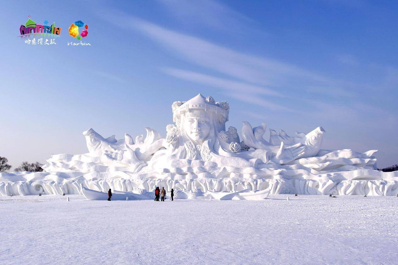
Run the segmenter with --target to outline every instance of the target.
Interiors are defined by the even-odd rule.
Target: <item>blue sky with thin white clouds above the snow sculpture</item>
[[[322,126],[322,149],[378,149],[378,167],[396,164],[398,2],[380,2],[4,2],[0,156],[16,167],[86,153],[89,128],[165,135],[171,104],[200,92],[230,103],[238,131]],[[57,44],[17,38],[27,15],[55,21]],[[91,46],[67,46],[76,20]]]

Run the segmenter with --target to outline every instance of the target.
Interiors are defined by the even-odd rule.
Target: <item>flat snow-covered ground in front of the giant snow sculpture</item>
[[[290,197],[287,201],[286,197]],[[0,264],[396,264],[398,198],[0,197]]]

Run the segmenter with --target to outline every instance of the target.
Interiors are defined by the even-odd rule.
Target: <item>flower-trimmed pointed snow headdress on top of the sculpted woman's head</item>
[[[189,112],[194,116],[203,116],[205,112],[214,112],[220,123],[228,121],[229,104],[226,101],[215,102],[213,97],[203,97],[200,93],[190,99],[189,101],[175,101],[172,104],[173,122],[178,120],[178,117]]]

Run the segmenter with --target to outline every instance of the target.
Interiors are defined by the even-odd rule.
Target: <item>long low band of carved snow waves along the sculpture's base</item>
[[[24,172],[21,172],[22,174]],[[41,180],[18,180],[15,182],[4,182],[2,173],[2,182],[0,182],[0,194],[2,196],[13,195],[38,195],[42,194],[80,194],[80,184],[92,190],[108,191],[151,191],[154,187],[164,187],[170,191],[172,188],[176,191],[186,190],[194,191],[242,191],[242,190],[266,190],[269,194],[281,193],[298,193],[307,195],[375,195],[375,196],[391,196],[398,193],[398,176],[394,174],[395,180],[331,180],[325,176],[318,179],[255,179],[244,178],[238,174],[232,177],[224,178],[199,178],[197,175],[191,175],[187,179],[185,176],[168,173],[164,179],[148,177],[145,179],[132,178],[103,178],[103,176],[95,176],[95,174],[85,174],[74,179],[62,178],[61,173],[51,174],[47,172],[36,172],[35,178]],[[17,175],[17,173],[7,173]],[[21,174],[21,175],[22,175]],[[29,175],[29,174],[28,174]],[[18,176],[18,175],[17,175]],[[106,174],[105,174],[106,176]],[[94,177],[94,178],[93,178]],[[96,178],[95,178],[96,177]],[[143,176],[142,176],[143,177]],[[258,176],[254,176],[258,177]],[[99,179],[98,179],[99,178]],[[57,180],[57,181],[56,181]],[[149,195],[150,195],[149,194]]]

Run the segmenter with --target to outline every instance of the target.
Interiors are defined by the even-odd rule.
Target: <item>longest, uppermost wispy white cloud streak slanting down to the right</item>
[[[301,89],[305,85],[325,83],[330,85],[330,83],[336,82],[329,77],[293,64],[237,52],[125,13],[104,14],[103,18],[111,23],[118,21],[115,24],[121,27],[129,27],[142,32],[188,62],[250,83]]]

